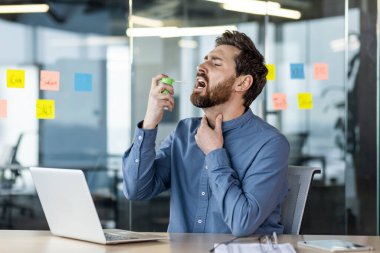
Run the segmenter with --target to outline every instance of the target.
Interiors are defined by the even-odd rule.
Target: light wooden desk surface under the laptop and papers
[[[160,233],[165,234],[165,233]],[[227,234],[169,234],[169,240],[139,242],[119,245],[100,245],[55,237],[49,231],[0,230],[1,253],[208,253],[214,243],[233,238]],[[321,253],[310,249],[297,248],[298,240],[342,239],[368,244],[380,253],[378,236],[329,236],[329,235],[280,235],[279,242],[293,244],[298,253]],[[246,237],[239,242],[257,242],[257,237]]]

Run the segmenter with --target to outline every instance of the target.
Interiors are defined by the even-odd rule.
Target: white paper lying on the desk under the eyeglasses
[[[259,243],[231,243],[215,244],[215,253],[296,253],[290,243],[280,243],[277,245],[266,245]]]

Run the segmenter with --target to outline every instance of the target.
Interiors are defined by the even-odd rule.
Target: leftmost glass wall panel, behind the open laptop
[[[102,224],[122,223],[118,210],[127,201],[118,178],[130,143],[129,45],[125,16],[117,32],[108,13],[120,16],[103,7],[87,12],[86,4],[67,2],[46,14],[0,15],[0,228],[48,228],[29,166],[84,170]],[[22,71],[23,88],[9,86],[9,70]],[[43,70],[59,73],[57,89],[40,87]],[[77,74],[90,77],[84,90]],[[54,101],[52,119],[38,118],[38,100]]]

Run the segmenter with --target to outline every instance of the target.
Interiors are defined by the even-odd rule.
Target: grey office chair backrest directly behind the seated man
[[[284,225],[285,234],[299,234],[310,183],[314,174],[319,173],[321,173],[321,169],[316,167],[289,166],[290,190],[281,206],[281,222]]]

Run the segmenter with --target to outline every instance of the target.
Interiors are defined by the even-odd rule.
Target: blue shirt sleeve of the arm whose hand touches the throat
[[[289,143],[282,135],[265,143],[239,180],[225,149],[206,156],[209,184],[235,236],[253,234],[287,194]]]

